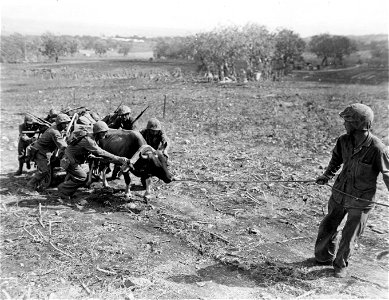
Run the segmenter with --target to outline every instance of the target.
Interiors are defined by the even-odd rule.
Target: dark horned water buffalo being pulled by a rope
[[[167,157],[161,150],[155,150],[147,145],[145,139],[138,131],[111,129],[108,131],[106,138],[101,140],[100,147],[112,154],[130,159],[131,163],[123,169],[126,183],[126,198],[131,197],[129,172],[141,178],[142,183],[146,187],[145,198],[150,196],[152,176],[158,177],[165,183],[170,183],[173,180],[173,176],[167,168]],[[106,168],[102,172],[103,185],[108,186],[105,170]]]

